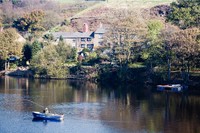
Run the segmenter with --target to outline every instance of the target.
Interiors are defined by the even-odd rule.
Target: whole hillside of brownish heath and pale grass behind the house
[[[169,5],[173,0],[40,0],[22,1],[13,5],[11,2],[0,4],[0,18],[4,26],[11,26],[13,20],[29,14],[34,10],[42,10],[45,18],[42,26],[47,31],[79,31],[83,23],[88,23],[90,30],[94,30],[100,22],[112,23],[119,12],[127,9],[135,17],[150,18],[150,9],[156,5]],[[115,15],[113,14],[114,12]]]

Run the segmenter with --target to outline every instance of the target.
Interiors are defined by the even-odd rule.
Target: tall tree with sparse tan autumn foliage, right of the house
[[[120,66],[134,60],[137,50],[144,42],[146,23],[138,14],[137,11],[122,10],[109,16],[112,23],[105,40],[112,46],[113,58]]]

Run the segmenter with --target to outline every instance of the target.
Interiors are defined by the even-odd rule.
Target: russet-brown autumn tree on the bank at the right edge
[[[172,64],[178,69],[187,73],[187,80],[191,68],[198,67],[200,44],[198,28],[178,30],[176,32],[165,33],[165,45],[170,53],[173,54]]]

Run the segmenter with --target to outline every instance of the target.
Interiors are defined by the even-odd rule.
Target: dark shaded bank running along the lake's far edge
[[[181,77],[180,72],[171,73],[171,81],[166,80],[167,72],[154,72],[149,73],[146,68],[128,68],[126,71],[121,70],[118,67],[86,67],[81,66],[79,68],[72,68],[70,73],[64,78],[51,77],[49,75],[34,75],[28,67],[19,67],[16,70],[1,71],[0,76],[8,75],[14,77],[25,77],[25,78],[38,78],[38,79],[56,79],[56,80],[85,80],[98,82],[101,84],[146,84],[146,85],[157,85],[157,84],[185,84],[189,88],[200,88],[200,73],[191,72],[189,80],[187,82]],[[200,90],[200,89],[199,89]]]

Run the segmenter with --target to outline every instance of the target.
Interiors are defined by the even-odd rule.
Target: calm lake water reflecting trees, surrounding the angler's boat
[[[109,84],[109,83],[107,83]],[[48,107],[62,122],[33,121]],[[200,96],[154,87],[0,78],[0,133],[199,133]]]

